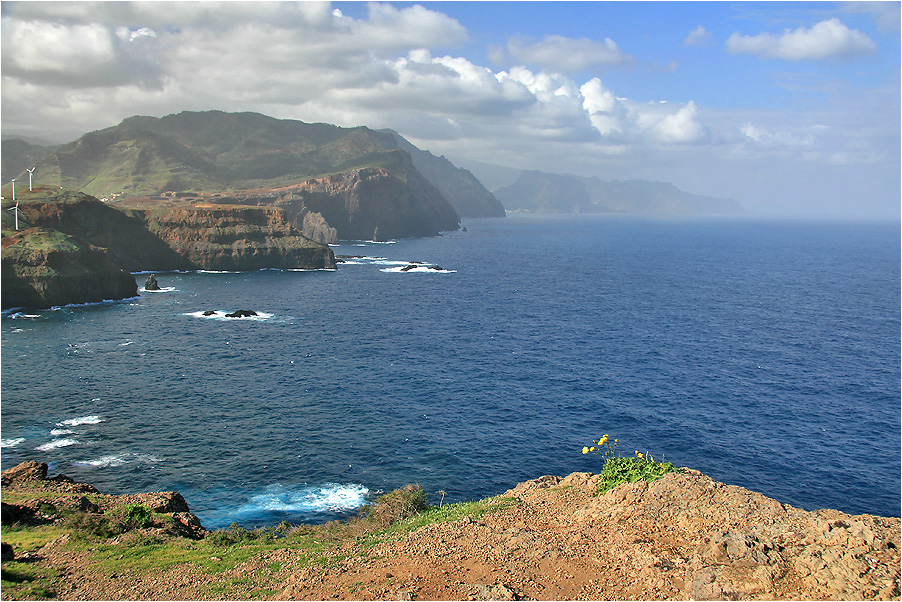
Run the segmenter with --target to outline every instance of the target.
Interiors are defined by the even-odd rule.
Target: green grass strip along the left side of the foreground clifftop
[[[27,495],[4,493],[23,499]],[[43,496],[50,498],[52,496]],[[418,486],[407,486],[377,498],[361,515],[347,521],[323,525],[293,526],[283,523],[271,529],[247,530],[233,525],[229,529],[208,532],[206,538],[190,540],[182,537],[158,536],[141,530],[139,525],[156,521],[158,515],[146,516],[146,507],[123,505],[104,515],[61,511],[61,524],[38,527],[4,526],[3,541],[13,545],[17,555],[34,551],[62,535],[70,534],[66,546],[87,552],[91,569],[98,576],[113,573],[161,574],[177,565],[187,565],[207,575],[211,583],[198,583],[197,594],[206,597],[268,598],[280,591],[288,571],[303,566],[338,566],[349,557],[363,561],[374,558],[372,548],[426,525],[476,519],[517,503],[502,496],[476,502],[428,506],[426,495]],[[132,530],[120,531],[115,540],[112,532],[95,529],[91,521],[77,514],[102,521],[127,523]],[[352,543],[353,546],[343,547]],[[274,561],[266,554],[292,550],[288,562]],[[244,563],[258,559],[256,576],[230,576],[229,572]],[[54,596],[53,582],[59,576],[41,563],[8,562],[3,565],[4,599],[46,599]]]

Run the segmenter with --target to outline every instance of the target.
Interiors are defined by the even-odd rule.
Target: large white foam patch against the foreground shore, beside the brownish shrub
[[[250,498],[238,509],[239,514],[251,512],[345,512],[366,503],[369,489],[358,484],[325,483],[289,489],[271,485],[264,493]]]

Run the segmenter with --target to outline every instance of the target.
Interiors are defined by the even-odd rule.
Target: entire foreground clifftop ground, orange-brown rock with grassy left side
[[[9,472],[4,502],[36,507],[22,496],[38,491],[56,506],[86,505],[77,500],[87,492],[66,493],[77,485]],[[436,520],[419,527],[410,521],[421,517],[379,531],[301,528],[262,546],[199,539],[185,508],[131,497],[176,518],[103,541],[54,531],[4,562],[3,599],[13,599],[7,572],[23,561],[50,575],[33,597],[73,600],[899,599],[898,518],[806,512],[694,471],[595,491],[589,473],[546,476],[486,503],[433,509]],[[13,510],[4,506],[4,542]],[[148,561],[173,550],[189,560]]]

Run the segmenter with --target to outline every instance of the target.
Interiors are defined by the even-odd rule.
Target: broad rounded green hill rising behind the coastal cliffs
[[[311,177],[393,165],[393,140],[256,113],[184,112],[130,117],[42,159],[40,183],[98,197],[286,186]]]

